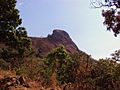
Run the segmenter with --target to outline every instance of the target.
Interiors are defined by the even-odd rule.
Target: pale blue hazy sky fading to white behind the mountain
[[[65,30],[80,50],[97,59],[120,47],[120,36],[106,31],[101,9],[90,8],[89,0],[18,0],[17,7],[29,36]]]

